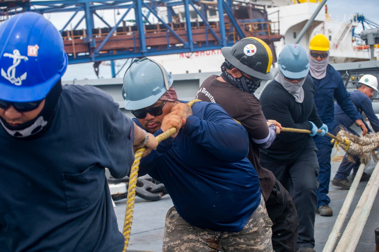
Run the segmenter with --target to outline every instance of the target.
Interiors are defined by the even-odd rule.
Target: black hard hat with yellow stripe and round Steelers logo
[[[269,46],[256,37],[245,37],[232,47],[221,48],[225,59],[248,75],[259,79],[272,79],[270,72],[273,53]]]

